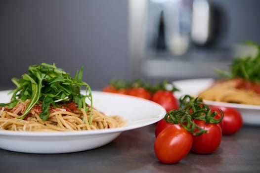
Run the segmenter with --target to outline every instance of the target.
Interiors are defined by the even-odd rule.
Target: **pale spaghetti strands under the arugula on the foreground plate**
[[[26,104],[20,103],[26,106]],[[126,125],[120,116],[107,116],[95,109],[92,111],[91,123],[88,123],[89,112],[83,108],[76,111],[69,111],[62,108],[51,109],[49,118],[43,121],[37,112],[39,110],[33,108],[28,116],[22,120],[17,112],[20,106],[12,110],[2,107],[0,110],[0,130],[14,131],[73,131],[73,130],[100,130],[119,128]],[[24,108],[22,108],[24,109]],[[21,110],[22,110],[21,109]],[[18,113],[21,113],[20,111]],[[85,120],[85,121],[83,121]]]

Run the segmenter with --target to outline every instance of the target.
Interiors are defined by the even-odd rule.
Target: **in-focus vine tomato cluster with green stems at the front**
[[[237,110],[208,106],[201,98],[185,95],[179,99],[179,108],[156,124],[155,155],[164,164],[174,164],[189,152],[212,154],[222,135],[234,134],[242,124]]]

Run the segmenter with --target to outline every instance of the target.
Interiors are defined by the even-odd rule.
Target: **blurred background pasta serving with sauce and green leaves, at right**
[[[260,44],[246,41],[247,46],[256,48],[257,54],[238,56],[233,59],[228,72],[217,70],[225,76],[199,96],[206,100],[260,105]]]

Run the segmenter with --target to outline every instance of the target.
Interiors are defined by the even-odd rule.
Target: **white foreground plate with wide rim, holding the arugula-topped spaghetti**
[[[8,91],[0,91],[0,103],[8,102]],[[1,131],[0,148],[26,153],[68,153],[103,146],[123,131],[141,128],[161,120],[165,109],[159,104],[122,94],[92,91],[93,106],[107,115],[120,115],[126,127],[70,132]]]

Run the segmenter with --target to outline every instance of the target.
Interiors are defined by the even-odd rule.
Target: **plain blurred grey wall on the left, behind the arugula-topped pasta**
[[[0,0],[0,87],[55,63],[101,88],[129,78],[127,0]]]

